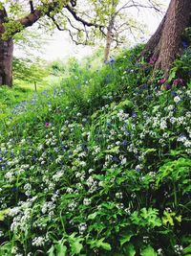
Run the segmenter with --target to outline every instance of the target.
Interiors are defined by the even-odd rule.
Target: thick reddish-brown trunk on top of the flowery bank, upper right
[[[148,41],[142,55],[150,51],[157,58],[154,71],[161,69],[168,78],[173,61],[182,49],[181,35],[189,26],[191,16],[190,0],[171,0],[158,30]]]

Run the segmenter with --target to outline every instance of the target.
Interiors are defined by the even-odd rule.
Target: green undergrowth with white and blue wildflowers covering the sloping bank
[[[0,255],[190,255],[190,74],[140,50],[2,118]]]

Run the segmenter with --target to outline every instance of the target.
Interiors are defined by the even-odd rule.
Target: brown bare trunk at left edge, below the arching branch
[[[0,85],[12,85],[13,41],[0,40]]]

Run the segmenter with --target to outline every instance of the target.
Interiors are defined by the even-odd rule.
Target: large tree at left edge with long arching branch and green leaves
[[[93,18],[87,21],[80,16],[81,12],[78,15],[76,2],[77,0],[0,1],[0,85],[12,85],[13,36],[32,26],[40,18],[48,17],[59,29],[56,14],[61,13],[63,20],[68,21],[80,33],[85,29],[79,30],[73,25],[72,19],[83,28],[96,27],[101,30],[102,27],[96,25]]]

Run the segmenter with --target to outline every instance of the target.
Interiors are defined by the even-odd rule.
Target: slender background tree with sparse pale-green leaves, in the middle
[[[106,44],[104,61],[107,61],[113,46],[117,47],[129,38],[136,40],[137,35],[145,34],[143,26],[138,22],[136,12],[145,9],[160,12],[162,5],[156,0],[92,0],[96,13],[105,27]]]

